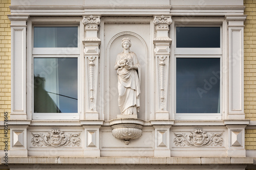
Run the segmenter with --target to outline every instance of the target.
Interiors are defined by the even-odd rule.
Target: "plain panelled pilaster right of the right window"
[[[246,15],[226,16],[228,23],[228,114],[244,119],[244,21]]]

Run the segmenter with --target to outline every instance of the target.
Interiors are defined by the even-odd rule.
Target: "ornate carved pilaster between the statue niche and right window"
[[[169,119],[169,112],[166,110],[167,104],[167,85],[170,57],[169,25],[172,23],[170,16],[155,16],[155,63],[156,63],[156,82],[157,82],[157,111],[155,119]]]

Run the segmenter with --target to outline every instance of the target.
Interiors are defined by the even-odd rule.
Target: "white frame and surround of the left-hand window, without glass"
[[[31,18],[28,21],[28,118],[33,120],[78,120],[82,118],[82,82],[83,82],[83,57],[82,43],[80,37],[82,33],[81,18]],[[60,48],[60,47],[33,47],[34,44],[34,27],[77,27],[77,47]],[[78,76],[78,102],[77,113],[34,113],[34,58],[77,58],[77,76]]]

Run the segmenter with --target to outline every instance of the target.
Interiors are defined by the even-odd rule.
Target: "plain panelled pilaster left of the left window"
[[[9,15],[11,20],[11,114],[27,119],[27,15]]]

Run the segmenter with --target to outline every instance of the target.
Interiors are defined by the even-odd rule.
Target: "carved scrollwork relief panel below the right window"
[[[222,133],[208,133],[203,129],[194,129],[190,133],[175,134],[174,143],[176,146],[185,145],[194,147],[221,146],[223,144]]]

